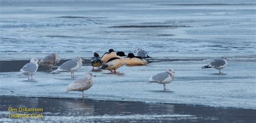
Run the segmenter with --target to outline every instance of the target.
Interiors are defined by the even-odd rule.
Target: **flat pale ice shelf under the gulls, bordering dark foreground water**
[[[123,66],[118,69],[119,74],[93,72],[91,66],[85,65],[75,75],[81,77],[85,72],[91,72],[97,76],[93,78],[95,85],[85,92],[90,99],[256,108],[254,61],[230,61],[224,74],[218,74],[215,69],[200,69],[206,63],[207,60],[162,61],[146,66]],[[174,81],[167,84],[171,91],[164,92],[163,85],[146,83],[150,76],[167,68],[177,73]],[[64,93],[66,86],[74,80],[68,72],[39,71],[33,81],[26,80],[18,72],[1,72],[0,77],[0,95],[81,97],[80,92]]]

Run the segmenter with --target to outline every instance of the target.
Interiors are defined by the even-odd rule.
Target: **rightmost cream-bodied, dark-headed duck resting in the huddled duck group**
[[[133,53],[129,53],[127,58],[125,59],[125,64],[126,65],[146,65],[147,60],[139,56],[134,56]]]

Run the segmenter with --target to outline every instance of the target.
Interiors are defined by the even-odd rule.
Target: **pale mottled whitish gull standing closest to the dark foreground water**
[[[88,90],[93,85],[92,74],[86,73],[84,77],[78,78],[68,85],[66,93],[70,91],[82,91],[84,99],[84,91]]]

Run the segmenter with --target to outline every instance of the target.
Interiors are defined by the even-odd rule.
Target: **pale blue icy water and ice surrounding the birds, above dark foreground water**
[[[138,47],[153,57],[146,66],[120,67],[120,74],[92,72],[97,77],[87,98],[256,109],[256,1],[0,2],[1,60],[42,59],[52,52],[90,59],[95,51],[129,53]],[[200,69],[223,56],[229,59],[224,74]],[[176,71],[170,91],[146,84],[169,68]],[[90,69],[85,64],[75,74]],[[81,97],[64,93],[73,81],[70,73],[38,71],[34,78],[1,72],[0,95]]]

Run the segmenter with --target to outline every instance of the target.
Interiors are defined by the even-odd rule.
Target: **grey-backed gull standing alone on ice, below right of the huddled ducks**
[[[175,77],[175,72],[171,69],[168,69],[166,72],[157,73],[149,79],[150,83],[159,83],[164,84],[164,91],[169,90],[165,88],[165,84],[171,83]]]

